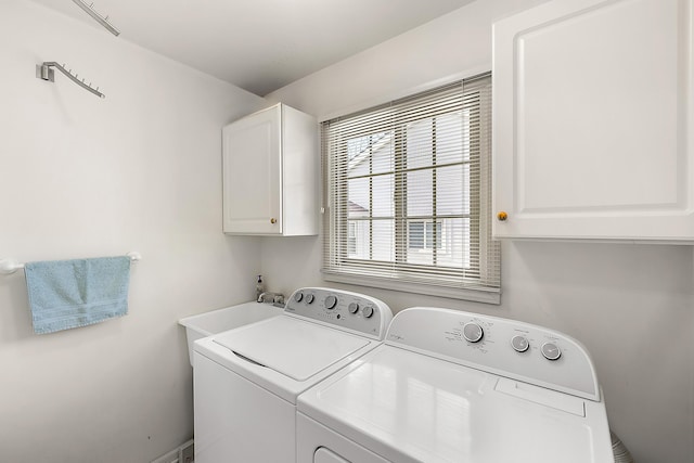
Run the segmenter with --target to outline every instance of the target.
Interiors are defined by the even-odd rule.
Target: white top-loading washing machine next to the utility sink
[[[378,346],[391,319],[376,298],[306,287],[278,317],[195,342],[195,462],[294,462],[297,396]]]

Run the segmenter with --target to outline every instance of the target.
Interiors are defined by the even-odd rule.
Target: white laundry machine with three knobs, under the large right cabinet
[[[297,401],[299,463],[614,462],[593,362],[577,340],[439,308]]]

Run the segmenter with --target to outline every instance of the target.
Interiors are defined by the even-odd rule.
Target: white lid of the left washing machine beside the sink
[[[306,381],[370,344],[290,316],[222,333],[215,343],[295,381]]]

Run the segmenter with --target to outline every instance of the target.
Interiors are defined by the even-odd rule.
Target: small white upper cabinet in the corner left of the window
[[[223,230],[318,234],[318,124],[277,104],[222,131]]]

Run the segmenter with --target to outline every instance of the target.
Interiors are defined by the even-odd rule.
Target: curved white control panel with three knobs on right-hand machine
[[[576,339],[542,326],[432,307],[399,312],[386,343],[477,370],[600,400],[595,368]]]

